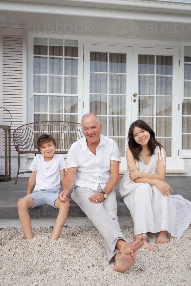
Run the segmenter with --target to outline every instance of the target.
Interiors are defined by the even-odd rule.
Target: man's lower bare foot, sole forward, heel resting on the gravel
[[[129,247],[123,251],[123,253],[118,252],[115,255],[115,265],[113,271],[125,272],[129,267],[135,263],[135,256],[133,250]]]

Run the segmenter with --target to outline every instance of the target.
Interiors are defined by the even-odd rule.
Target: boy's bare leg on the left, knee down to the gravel
[[[17,202],[19,219],[26,239],[33,239],[31,219],[28,213],[28,208],[31,208],[33,205],[34,205],[34,199],[31,198],[30,196],[25,196],[24,198],[20,198]]]

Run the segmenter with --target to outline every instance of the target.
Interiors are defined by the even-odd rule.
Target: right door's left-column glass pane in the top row
[[[139,55],[138,74],[155,74],[154,55]]]

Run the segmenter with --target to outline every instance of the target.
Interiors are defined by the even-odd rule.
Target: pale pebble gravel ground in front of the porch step
[[[34,229],[34,239],[24,239],[22,229],[0,230],[0,285],[191,285],[191,225],[166,245],[147,241],[155,253],[137,251],[135,264],[125,273],[107,263],[103,238],[95,227],[64,227],[57,241],[50,241],[53,227]],[[133,227],[123,227],[133,240]]]

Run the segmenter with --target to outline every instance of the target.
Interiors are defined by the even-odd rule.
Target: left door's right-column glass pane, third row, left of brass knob
[[[125,115],[126,96],[109,96],[109,115]]]

